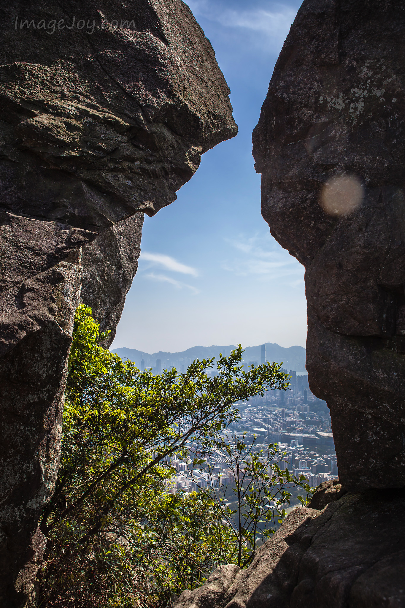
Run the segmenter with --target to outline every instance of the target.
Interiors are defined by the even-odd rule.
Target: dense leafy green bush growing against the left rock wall
[[[194,361],[183,374],[173,368],[154,376],[104,350],[100,342],[105,337],[91,309],[80,305],[69,357],[60,469],[41,520],[47,537],[44,606],[133,606],[139,589],[149,603],[152,596],[159,603],[159,593],[169,598],[172,589],[199,584],[215,565],[199,548],[216,542],[211,528],[223,528],[225,536],[233,532],[200,497],[166,496],[174,473],[169,457],[185,456],[190,449],[209,452],[218,432],[236,418],[237,401],[288,387],[281,365],[244,371],[240,345],[229,357],[219,356],[214,378],[206,375],[214,359]],[[194,523],[186,531],[181,522],[188,512],[188,523]],[[148,528],[148,542],[142,545]],[[157,538],[163,548],[157,548]],[[154,564],[149,581],[140,546]],[[166,547],[171,547],[169,559],[163,557]]]

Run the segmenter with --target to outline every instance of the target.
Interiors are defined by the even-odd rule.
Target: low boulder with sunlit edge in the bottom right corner
[[[210,608],[405,606],[405,491],[345,494],[322,511],[298,508]],[[229,567],[229,566],[228,566]],[[223,567],[222,567],[223,568]],[[217,570],[213,580],[221,575]],[[207,582],[176,608],[202,608]],[[205,592],[206,587],[206,592]]]

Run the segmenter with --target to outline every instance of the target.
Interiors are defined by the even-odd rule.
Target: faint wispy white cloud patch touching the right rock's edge
[[[224,260],[222,268],[240,276],[257,275],[259,280],[285,278],[291,275],[302,275],[304,269],[301,264],[288,254],[275,246],[270,235],[246,238],[240,235],[237,239],[225,239],[233,249],[243,254],[235,255],[233,259]],[[274,247],[274,249],[273,249]],[[288,283],[291,287],[302,283],[302,277]]]

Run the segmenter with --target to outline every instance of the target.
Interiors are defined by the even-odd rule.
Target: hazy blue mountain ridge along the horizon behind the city
[[[288,371],[294,370],[301,373],[305,372],[305,348],[302,346],[291,346],[290,348],[284,348],[279,344],[273,344],[272,342],[266,342],[266,359],[267,361],[277,363],[283,363],[283,367],[287,368]],[[156,367],[157,359],[160,359],[162,370],[165,368],[175,367],[181,371],[182,365],[187,367],[194,359],[206,359],[211,357],[217,357],[219,353],[230,354],[231,350],[236,348],[233,344],[226,346],[194,346],[183,350],[179,353],[166,353],[165,351],[158,351],[158,353],[145,353],[136,348],[115,348],[112,350],[113,353],[117,353],[121,359],[129,359],[133,361],[137,367],[141,366],[141,361],[145,362],[145,367]],[[260,364],[261,357],[261,345],[245,347],[243,353],[243,363],[248,365],[250,361],[257,362]]]

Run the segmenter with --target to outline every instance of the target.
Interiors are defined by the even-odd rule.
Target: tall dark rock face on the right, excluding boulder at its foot
[[[405,485],[404,36],[403,1],[305,0],[253,134],[262,215],[306,268],[309,384],[352,491]],[[338,176],[360,193],[350,213],[319,204]]]

